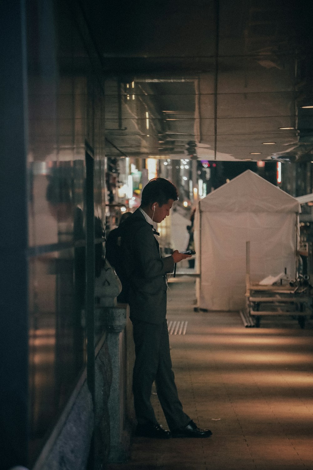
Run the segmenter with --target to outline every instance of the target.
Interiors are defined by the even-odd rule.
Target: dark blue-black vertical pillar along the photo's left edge
[[[1,3],[0,468],[27,465],[28,195],[26,11]]]

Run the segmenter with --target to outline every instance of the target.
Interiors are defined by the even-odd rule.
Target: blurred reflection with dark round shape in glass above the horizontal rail
[[[30,164],[30,246],[84,239],[84,161]]]

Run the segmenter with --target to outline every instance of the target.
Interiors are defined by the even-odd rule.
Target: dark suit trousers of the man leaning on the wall
[[[183,412],[177,394],[169,351],[167,321],[161,325],[137,320],[132,322],[136,353],[133,393],[137,422],[158,423],[150,400],[155,381],[169,429],[186,426],[191,418]]]

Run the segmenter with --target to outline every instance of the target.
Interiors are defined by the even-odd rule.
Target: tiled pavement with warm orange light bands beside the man
[[[170,336],[176,384],[185,412],[213,436],[133,438],[130,461],[108,470],[313,470],[312,321],[300,329],[269,317],[257,329],[236,312],[194,313],[194,283],[181,281],[168,292],[168,320],[188,321]]]

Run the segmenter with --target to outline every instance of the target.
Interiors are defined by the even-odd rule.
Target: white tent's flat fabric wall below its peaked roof
[[[251,282],[277,275],[285,267],[294,278],[296,222],[295,213],[202,212],[199,307],[244,308],[246,241],[251,244]]]

